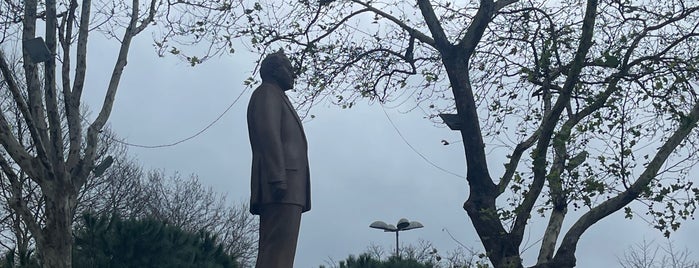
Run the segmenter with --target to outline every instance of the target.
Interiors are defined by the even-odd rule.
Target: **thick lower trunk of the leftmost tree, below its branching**
[[[63,184],[63,185],[61,185]],[[72,263],[72,188],[57,183],[45,193],[46,227],[43,228],[43,245],[39,254],[44,268],[70,268]]]

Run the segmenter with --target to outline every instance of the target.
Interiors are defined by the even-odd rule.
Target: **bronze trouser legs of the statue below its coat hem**
[[[256,268],[292,268],[301,224],[301,206],[268,204],[260,208]]]

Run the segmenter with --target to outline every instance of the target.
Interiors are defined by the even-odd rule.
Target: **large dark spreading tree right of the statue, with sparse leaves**
[[[495,267],[523,267],[532,214],[548,218],[539,268],[575,266],[620,210],[666,236],[693,215],[699,1],[282,2],[251,8],[246,34],[294,52],[300,105],[455,113],[463,208]]]

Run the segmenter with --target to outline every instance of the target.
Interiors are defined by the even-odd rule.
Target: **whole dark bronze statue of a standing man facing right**
[[[308,147],[301,119],[284,93],[295,78],[289,58],[283,51],[268,55],[260,76],[248,105],[250,213],[260,215],[255,267],[291,268],[301,213],[311,209]]]

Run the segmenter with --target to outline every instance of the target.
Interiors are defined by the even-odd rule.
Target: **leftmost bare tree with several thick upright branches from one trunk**
[[[23,4],[23,5],[22,5]],[[112,78],[105,96],[105,104],[97,118],[90,124],[87,135],[83,136],[80,118],[80,101],[85,79],[87,56],[86,48],[90,29],[90,1],[82,3],[77,12],[77,1],[57,7],[54,0],[44,3],[39,13],[38,1],[16,3],[23,6],[22,40],[36,37],[37,21],[46,22],[46,45],[51,55],[57,55],[58,45],[63,49],[61,56],[61,77],[56,77],[56,57],[49,57],[43,66],[44,81],[40,81],[39,64],[32,59],[29,50],[23,49],[23,69],[26,88],[20,87],[16,75],[9,68],[5,49],[0,50],[0,70],[7,81],[8,90],[13,101],[21,111],[22,119],[30,133],[34,152],[28,151],[19,138],[12,134],[12,128],[5,113],[0,114],[0,144],[6,155],[0,158],[3,173],[11,183],[19,183],[21,171],[26,173],[41,187],[44,198],[45,221],[37,222],[32,212],[21,200],[12,202],[28,226],[37,244],[38,253],[45,267],[70,267],[71,265],[71,230],[73,210],[77,193],[85,184],[89,173],[95,167],[98,133],[105,125],[111,112],[114,96],[121,79],[123,68],[132,38],[150,24],[155,15],[155,2],[141,17],[138,1],[129,9],[130,20],[121,39],[119,57],[114,65]],[[65,8],[58,12],[59,8]],[[61,14],[61,16],[59,16]],[[60,21],[59,21],[60,20]],[[139,20],[142,20],[139,22]],[[76,27],[77,26],[77,27]],[[77,28],[77,29],[76,29]],[[74,77],[71,79],[71,48],[74,45],[73,31],[77,30],[77,61]],[[61,83],[61,97],[57,84]],[[43,84],[43,85],[42,85]],[[22,94],[22,92],[26,92]],[[26,97],[25,97],[26,96]],[[59,101],[63,101],[66,111],[68,130],[64,131],[59,114]],[[69,140],[69,150],[65,153],[64,136]],[[12,162],[14,162],[14,164]]]

